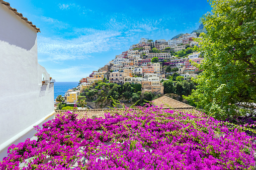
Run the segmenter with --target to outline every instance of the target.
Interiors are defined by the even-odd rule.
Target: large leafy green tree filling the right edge
[[[218,119],[245,115],[248,109],[237,104],[256,102],[256,1],[209,2],[212,12],[201,19],[204,71],[187,99]]]

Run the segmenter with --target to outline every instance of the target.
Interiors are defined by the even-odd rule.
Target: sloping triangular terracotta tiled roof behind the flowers
[[[167,96],[162,96],[157,99],[152,100],[153,105],[163,108],[195,108],[193,106],[190,106],[188,104],[182,103],[178,100],[169,98]]]

